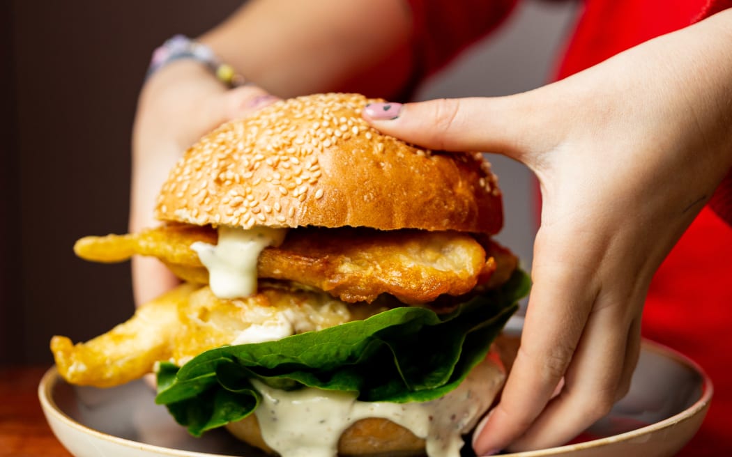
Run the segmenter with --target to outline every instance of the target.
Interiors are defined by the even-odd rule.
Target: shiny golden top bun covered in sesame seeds
[[[481,154],[416,148],[371,128],[358,94],[282,100],[192,146],[155,208],[171,222],[496,233],[501,192]],[[429,128],[429,126],[425,126]]]

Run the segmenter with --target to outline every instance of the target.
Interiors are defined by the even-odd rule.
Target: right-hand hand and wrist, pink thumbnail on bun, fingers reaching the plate
[[[505,154],[539,178],[534,287],[479,455],[560,445],[627,393],[651,277],[732,165],[731,23],[722,12],[524,94],[365,110],[383,132]]]

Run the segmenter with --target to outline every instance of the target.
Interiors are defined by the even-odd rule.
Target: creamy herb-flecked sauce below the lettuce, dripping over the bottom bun
[[[334,457],[343,431],[365,418],[384,418],[407,428],[425,439],[429,457],[459,457],[462,435],[488,409],[502,382],[496,365],[481,363],[441,399],[389,403],[313,388],[283,392],[252,379],[262,395],[255,409],[262,437],[283,457]]]

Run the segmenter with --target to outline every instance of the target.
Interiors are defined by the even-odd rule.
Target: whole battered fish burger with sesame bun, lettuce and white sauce
[[[289,456],[459,456],[505,369],[492,345],[528,279],[491,239],[501,192],[481,154],[383,135],[358,94],[283,100],[192,146],[162,224],[82,238],[87,260],[154,256],[182,284],[86,343],[62,377],[157,375],[193,435],[225,426]]]

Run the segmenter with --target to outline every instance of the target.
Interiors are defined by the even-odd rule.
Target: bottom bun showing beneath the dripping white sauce
[[[249,415],[238,422],[228,423],[226,429],[249,445],[277,455],[262,438],[259,421]],[[415,437],[403,426],[382,418],[367,418],[346,428],[338,440],[339,456],[411,457],[425,455],[425,440]]]

